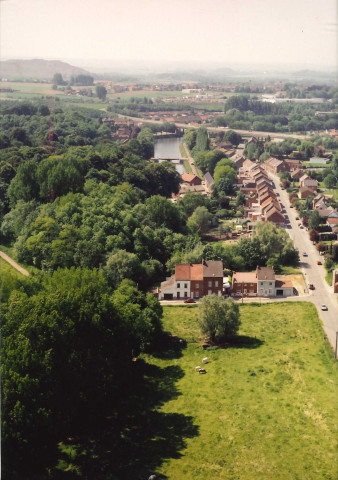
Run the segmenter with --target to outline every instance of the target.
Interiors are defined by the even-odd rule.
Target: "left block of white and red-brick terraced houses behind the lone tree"
[[[201,264],[177,264],[175,274],[161,283],[160,300],[221,296],[223,292],[223,263],[202,260]]]

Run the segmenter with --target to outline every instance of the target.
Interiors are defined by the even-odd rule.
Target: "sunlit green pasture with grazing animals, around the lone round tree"
[[[236,344],[207,351],[197,308],[164,307],[165,329],[187,347],[146,356],[157,367],[181,370],[176,394],[160,411],[192,417],[197,430],[157,469],[160,478],[337,479],[337,363],[314,306],[241,305]],[[206,355],[201,375],[195,366]]]

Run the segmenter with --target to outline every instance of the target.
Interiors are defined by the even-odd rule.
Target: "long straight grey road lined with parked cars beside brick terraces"
[[[317,265],[317,260],[323,261],[316,247],[309,239],[309,233],[305,228],[301,229],[296,220],[298,216],[295,208],[290,208],[288,193],[280,188],[278,177],[270,175],[275,184],[275,192],[279,194],[280,201],[284,207],[286,217],[286,230],[292,238],[300,254],[300,267],[305,275],[307,285],[313,284],[315,290],[309,291],[309,300],[315,304],[320,319],[323,322],[324,331],[330,344],[335,348],[336,332],[338,332],[338,295],[333,293],[325,280],[326,270],[323,265]],[[306,253],[307,256],[303,256]],[[302,298],[303,300],[303,298]],[[305,298],[304,298],[305,300]],[[321,305],[325,304],[328,311],[322,311]]]

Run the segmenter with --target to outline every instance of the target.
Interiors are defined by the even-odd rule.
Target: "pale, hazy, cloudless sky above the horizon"
[[[337,5],[337,0],[0,0],[0,54],[88,64],[334,67]]]

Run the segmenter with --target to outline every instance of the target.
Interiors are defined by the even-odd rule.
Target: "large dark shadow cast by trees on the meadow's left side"
[[[180,395],[175,383],[184,376],[183,370],[177,365],[160,368],[143,360],[133,363],[121,401],[101,414],[95,432],[59,448],[62,472],[55,478],[147,480],[165,459],[180,458],[186,439],[199,434],[192,417],[159,411]],[[159,480],[168,478],[156,475]]]

